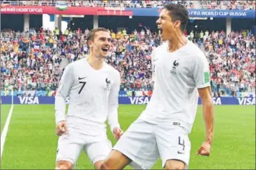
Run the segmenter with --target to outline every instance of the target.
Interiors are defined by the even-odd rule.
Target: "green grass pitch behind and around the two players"
[[[144,108],[145,105],[120,105],[122,129],[126,130]],[[10,105],[1,105],[1,132],[9,110]],[[198,107],[189,135],[189,169],[255,169],[255,105],[215,105],[214,111],[216,123],[211,155],[200,157],[195,153],[205,139],[205,126],[202,108]],[[14,105],[1,169],[54,169],[57,139],[54,105]],[[109,139],[115,144],[111,133]],[[93,169],[84,153],[77,162],[77,169]],[[161,160],[153,169],[161,169]]]

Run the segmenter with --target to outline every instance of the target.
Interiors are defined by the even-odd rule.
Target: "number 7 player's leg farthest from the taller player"
[[[55,169],[73,169],[80,155],[83,144],[75,142],[73,135],[62,135],[58,139]]]

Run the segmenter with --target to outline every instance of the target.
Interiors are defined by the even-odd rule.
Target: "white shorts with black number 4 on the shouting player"
[[[179,125],[159,126],[137,119],[118,140],[113,149],[132,160],[135,169],[151,169],[161,158],[181,160],[189,166],[191,143],[188,134]]]

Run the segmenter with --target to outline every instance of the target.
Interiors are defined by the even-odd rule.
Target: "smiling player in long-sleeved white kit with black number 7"
[[[90,31],[88,45],[88,58],[65,67],[56,93],[56,133],[60,136],[56,169],[73,169],[81,150],[99,169],[112,148],[106,135],[106,119],[115,139],[123,133],[118,122],[120,73],[104,62],[111,45],[109,31]],[[70,103],[65,115],[67,96]]]

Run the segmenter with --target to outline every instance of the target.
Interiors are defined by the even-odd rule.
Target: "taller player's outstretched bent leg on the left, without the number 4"
[[[152,124],[136,120],[120,137],[101,169],[124,169],[127,164],[135,169],[151,169],[159,158]]]

